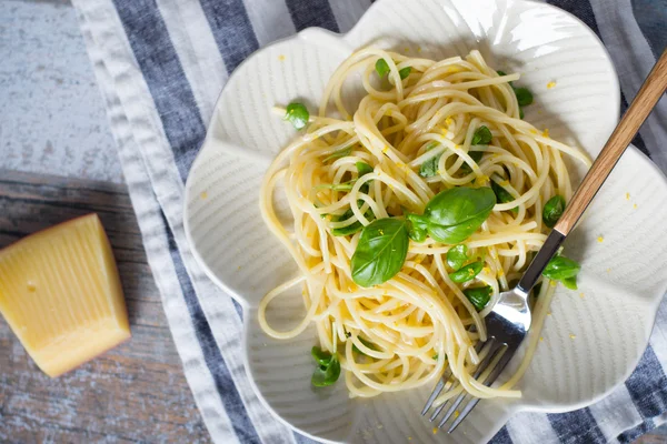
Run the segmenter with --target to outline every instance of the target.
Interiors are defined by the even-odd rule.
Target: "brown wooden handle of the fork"
[[[600,154],[590,167],[590,170],[584,178],[581,185],[567,204],[565,212],[558,220],[554,230],[563,235],[569,234],[575,228],[577,221],[584,214],[584,211],[598,192],[603,183],[620,159],[630,141],[639,131],[639,127],[646,120],[660,97],[667,89],[667,50],[657,61],[646,81],[637,92],[637,97],[627,109],[616,130],[609,137],[607,144],[600,151]]]

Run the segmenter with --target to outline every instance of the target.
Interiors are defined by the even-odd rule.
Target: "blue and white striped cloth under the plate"
[[[605,42],[624,107],[667,44],[667,0],[550,0]],[[349,30],[371,0],[73,0],[173,340],[217,443],[306,443],[253,395],[240,310],[195,262],[183,183],[229,73],[307,27]],[[667,100],[635,144],[667,171]],[[667,418],[667,304],[639,366],[610,396],[566,414],[519,414],[495,443],[628,443]]]

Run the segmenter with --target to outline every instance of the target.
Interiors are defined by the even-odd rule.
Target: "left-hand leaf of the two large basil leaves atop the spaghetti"
[[[365,287],[387,282],[402,268],[408,244],[405,221],[385,218],[366,225],[352,254],[352,281]]]

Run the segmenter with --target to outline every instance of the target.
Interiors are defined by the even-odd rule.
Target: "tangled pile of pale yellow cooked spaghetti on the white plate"
[[[388,75],[378,81],[379,59]],[[367,95],[349,110],[342,84],[359,72]],[[471,376],[484,357],[475,345],[486,340],[484,317],[499,292],[520,276],[546,239],[545,202],[556,194],[568,201],[573,194],[564,154],[587,167],[590,162],[520,119],[510,85],[518,79],[498,74],[477,51],[465,59],[434,61],[362,49],[337,69],[318,115],[266,173],[261,212],[296,261],[299,276],[265,296],[260,325],[267,334],[289,340],[315,323],[321,347],[339,356],[351,396],[434,383],[446,367],[460,385],[436,404],[462,390],[478,397],[520,395],[511,385],[526,365],[505,386],[487,387]],[[490,130],[491,140],[474,145],[480,127]],[[361,175],[359,162],[371,171]],[[422,172],[426,162],[431,162],[432,174]],[[464,241],[468,255],[484,262],[475,279],[454,282],[446,261],[452,245],[429,236],[422,243],[410,241],[402,268],[388,281],[370,287],[355,283],[350,261],[360,232],[335,235],[337,229],[421,214],[444,190],[489,186],[490,181],[511,199],[497,202]],[[278,185],[285,188],[293,223],[283,225],[277,216]],[[464,290],[480,284],[490,286],[491,296],[478,312]],[[302,286],[307,314],[292,330],[277,331],[267,323],[267,306],[297,285]],[[534,309],[538,327],[551,293],[552,285],[542,285]],[[535,346],[532,337],[528,357]]]

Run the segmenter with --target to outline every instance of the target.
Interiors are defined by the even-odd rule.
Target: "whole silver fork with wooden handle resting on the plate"
[[[593,198],[595,198],[595,194],[614,169],[614,165],[616,165],[616,162],[618,162],[618,159],[639,130],[641,123],[644,123],[657,101],[665,93],[666,88],[667,50],[663,52],[663,56],[646,78],[635,100],[609,137],[605,148],[603,148],[595,163],[590,167],[581,185],[577,189],[558,223],[547,236],[547,240],[521,276],[517,286],[510,291],[500,293],[494,310],[485,317],[487,341],[484,343],[479,342],[475,349],[484,359],[472,374],[472,377],[484,385],[490,386],[496,382],[505,366],[519,349],[530,327],[531,317],[530,307],[528,306],[530,290],[537,283],[537,280],[551,258],[558,252],[560,244],[574,229]],[[449,381],[450,377],[451,372],[447,370],[426,402],[421,411],[422,416],[426,415],[435,400],[442,393],[442,390],[447,393],[460,386],[458,381]],[[442,427],[455,414],[466,397],[467,393],[461,391],[461,394],[454,400],[445,416],[438,423],[438,428]],[[445,410],[449,401],[451,398],[435,410],[429,418],[431,422]],[[454,432],[478,402],[479,398],[477,397],[468,401],[459,415],[455,415],[454,422],[447,432]]]

